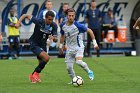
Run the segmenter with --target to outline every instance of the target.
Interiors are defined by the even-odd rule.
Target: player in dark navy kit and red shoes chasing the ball
[[[22,20],[25,18],[33,21],[35,24],[34,32],[29,38],[29,43],[31,51],[37,56],[39,64],[33,73],[29,75],[32,83],[41,82],[39,73],[41,73],[50,59],[46,53],[46,40],[51,38],[54,42],[57,42],[57,25],[53,22],[54,17],[55,15],[52,11],[46,13],[45,19],[37,19],[32,15],[24,14],[16,24],[17,28],[20,27]]]

